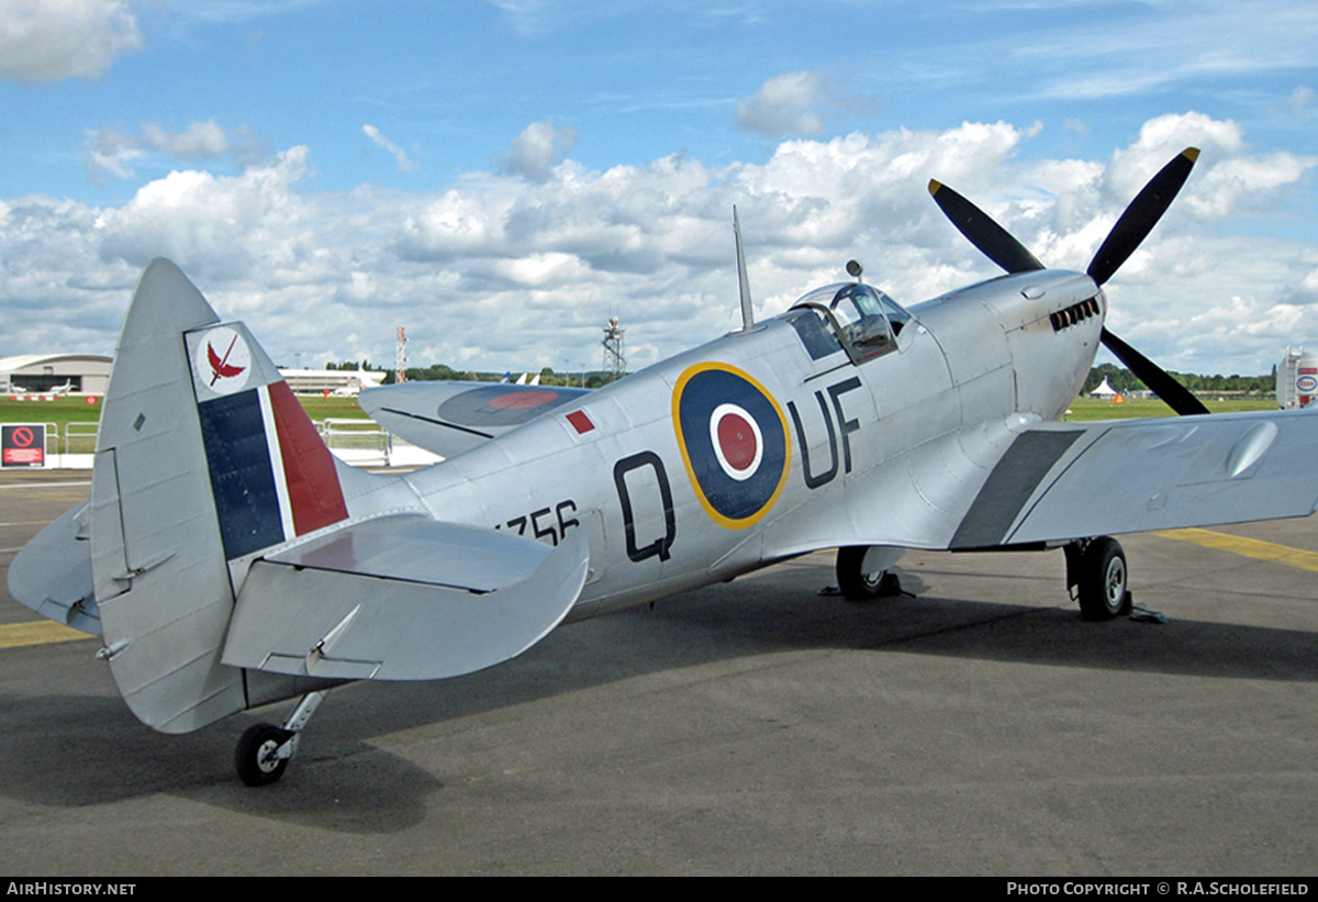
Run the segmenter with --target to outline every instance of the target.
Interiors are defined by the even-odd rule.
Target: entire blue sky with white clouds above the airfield
[[[1161,365],[1318,346],[1311,0],[0,0],[0,356],[111,353],[153,257],[281,365],[631,369],[866,281],[998,274],[931,178]],[[1104,353],[1099,363],[1111,361]]]

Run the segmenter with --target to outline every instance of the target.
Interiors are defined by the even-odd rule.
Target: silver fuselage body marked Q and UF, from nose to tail
[[[812,353],[789,313],[407,483],[438,520],[551,545],[581,530],[590,572],[575,618],[858,534],[928,545],[950,538],[1014,425],[1065,411],[1104,305],[1079,273],[1004,276],[912,307],[892,347],[859,364],[842,347]]]

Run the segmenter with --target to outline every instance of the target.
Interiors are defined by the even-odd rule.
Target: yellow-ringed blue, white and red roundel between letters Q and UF
[[[782,493],[791,462],[778,402],[735,367],[704,363],[677,380],[672,407],[687,476],[705,513],[729,529],[757,522]]]

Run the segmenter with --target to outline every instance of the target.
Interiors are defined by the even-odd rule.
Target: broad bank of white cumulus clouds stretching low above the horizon
[[[215,150],[206,133],[142,129],[125,146],[157,153],[177,138],[179,153]],[[1024,153],[1037,133],[965,123],[789,140],[763,162],[673,154],[602,170],[551,166],[555,152],[539,157],[542,178],[507,166],[439,191],[315,191],[310,152],[293,148],[233,175],[173,171],[117,207],[8,198],[0,355],[108,351],[137,270],[166,256],[281,363],[294,352],[387,360],[406,326],[418,364],[594,368],[617,314],[639,368],[739,323],[733,203],[759,316],[845,280],[849,258],[915,305],[999,274],[932,203],[929,178],[1045,264],[1083,270],[1135,193],[1189,144],[1203,153],[1181,196],[1104,286],[1114,331],[1188,372],[1267,372],[1286,344],[1318,342],[1302,334],[1318,305],[1318,252],[1288,237],[1288,200],[1318,160],[1256,152],[1238,125],[1198,113],[1151,120],[1097,160]],[[1239,211],[1248,229],[1232,228]]]

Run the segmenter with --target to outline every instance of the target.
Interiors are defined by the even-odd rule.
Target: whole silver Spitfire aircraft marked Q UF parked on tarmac
[[[1008,274],[913,307],[861,281],[597,392],[409,382],[361,406],[445,455],[339,464],[243,323],[170,262],[133,294],[91,501],[9,570],[32,609],[100,634],[124,700],[166,733],[302,696],[240,740],[281,777],[326,690],[457,676],[564,618],[820,549],[851,599],[903,549],[1066,550],[1090,620],[1128,603],[1111,533],[1313,513],[1318,415],[1209,417],[1103,328],[1102,285],[1198,152],[1131,203],[1085,273],[1048,270],[982,211],[938,206]],[[1061,423],[1104,343],[1180,419]]]

